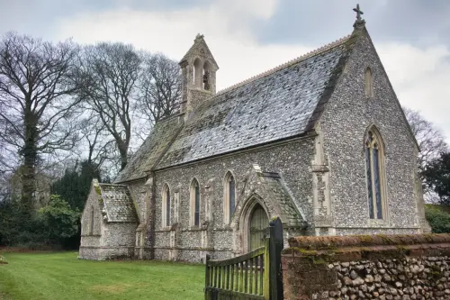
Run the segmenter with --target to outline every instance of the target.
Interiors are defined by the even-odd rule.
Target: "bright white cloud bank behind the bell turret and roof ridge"
[[[276,0],[220,0],[213,5],[170,12],[121,8],[102,14],[77,14],[58,21],[54,39],[73,37],[81,43],[123,41],[178,60],[200,32],[220,67],[218,87],[224,88],[311,50],[300,44],[257,42],[249,23],[269,18],[276,5]]]

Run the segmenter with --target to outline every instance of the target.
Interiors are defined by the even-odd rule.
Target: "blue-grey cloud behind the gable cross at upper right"
[[[257,23],[260,41],[327,42],[351,29],[356,3],[368,29],[378,41],[407,41],[413,45],[450,46],[448,0],[280,0],[268,22]],[[320,32],[320,34],[318,34]]]

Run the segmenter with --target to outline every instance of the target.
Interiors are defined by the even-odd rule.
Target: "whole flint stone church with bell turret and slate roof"
[[[354,31],[216,92],[202,35],[180,61],[179,112],[112,185],[94,180],[82,259],[225,259],[284,234],[429,232],[419,146],[358,14]]]

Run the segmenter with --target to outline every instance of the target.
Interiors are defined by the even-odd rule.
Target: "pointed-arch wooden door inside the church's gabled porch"
[[[255,250],[265,245],[268,234],[269,219],[261,205],[256,205],[250,219],[249,250]]]

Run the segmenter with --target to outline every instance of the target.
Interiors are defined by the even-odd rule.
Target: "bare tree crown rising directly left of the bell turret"
[[[141,53],[143,66],[139,81],[139,107],[152,123],[173,114],[182,94],[181,69],[163,54]]]

